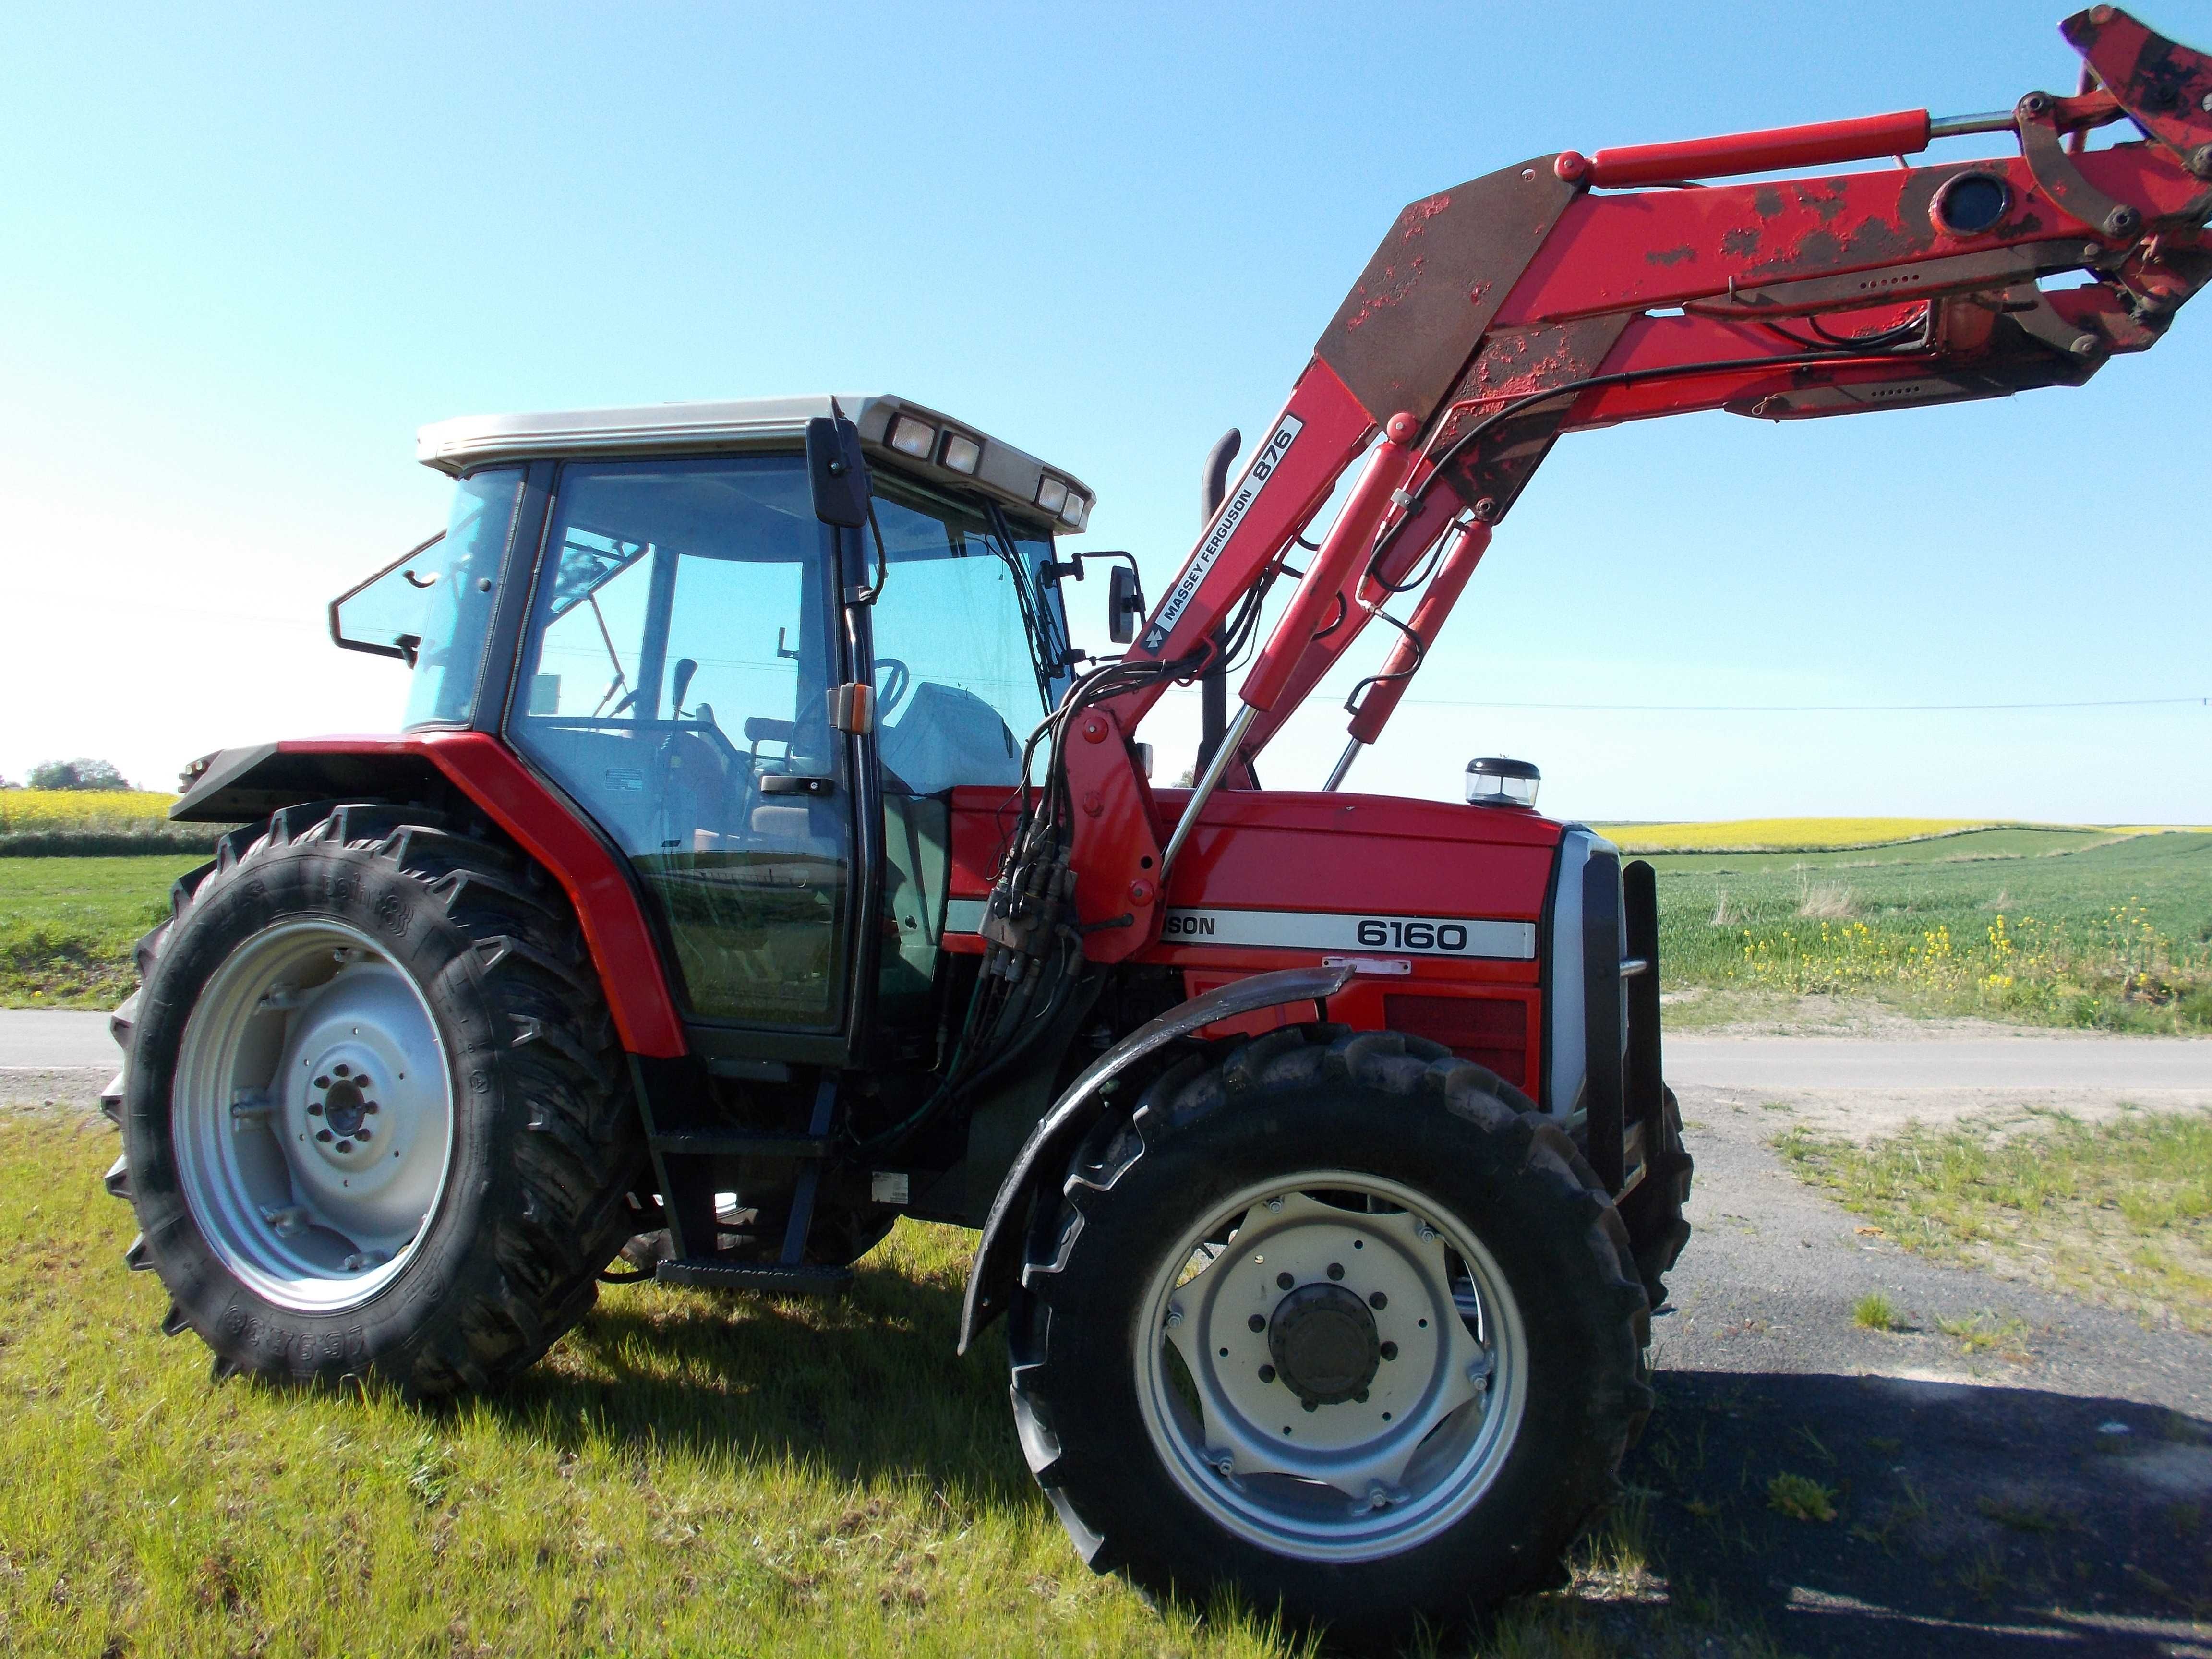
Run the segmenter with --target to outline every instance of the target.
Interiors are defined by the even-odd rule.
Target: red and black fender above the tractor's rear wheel
[[[575,905],[622,1046],[686,1053],[655,931],[622,858],[489,732],[310,737],[221,750],[168,810],[190,823],[243,823],[303,801],[422,801],[458,790],[551,872]]]

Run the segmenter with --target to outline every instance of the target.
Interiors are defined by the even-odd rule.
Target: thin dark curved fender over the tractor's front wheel
[[[1223,984],[1190,1002],[1179,1002],[1157,1020],[1137,1026],[1053,1102],[1053,1108],[1037,1119],[1022,1141],[1022,1150],[1006,1170],[1006,1179],[991,1199],[991,1214],[982,1223],[982,1241],[975,1245],[975,1261],[969,1267],[967,1296],[960,1301],[960,1352],[967,1354],[975,1334],[1006,1312],[1013,1296],[1015,1272],[1022,1261],[1022,1221],[1029,1212],[1029,1197],[1040,1181],[1057,1179],[1077,1141],[1106,1113],[1099,1088],[1119,1077],[1155,1048],[1164,1048],[1177,1037],[1214,1024],[1234,1020],[1259,1009],[1274,1009],[1283,1002],[1323,1002],[1345,989],[1356,969],[1343,967],[1283,969],[1279,973],[1254,973],[1245,980]]]

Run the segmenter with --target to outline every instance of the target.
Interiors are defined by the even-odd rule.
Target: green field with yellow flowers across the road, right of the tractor
[[[2042,852],[2039,852],[2042,847]],[[1989,830],[1854,854],[1663,854],[1690,1026],[1807,993],[1907,1013],[2212,1031],[2212,834]]]

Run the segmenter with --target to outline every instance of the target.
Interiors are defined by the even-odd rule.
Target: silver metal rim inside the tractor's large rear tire
[[[405,1270],[453,1161],[453,1084],[420,987],[367,933],[246,940],[184,1029],[177,1177],[208,1245],[294,1314],[361,1307]]]

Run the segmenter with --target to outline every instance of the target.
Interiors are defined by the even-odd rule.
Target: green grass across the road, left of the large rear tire
[[[135,984],[131,947],[206,856],[0,858],[0,1006],[106,1009]]]

